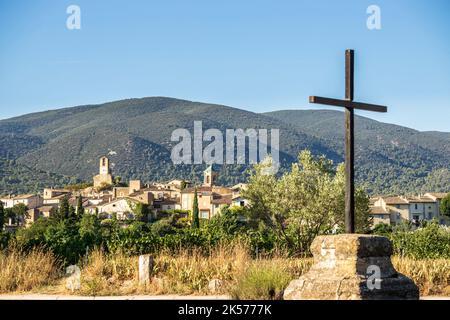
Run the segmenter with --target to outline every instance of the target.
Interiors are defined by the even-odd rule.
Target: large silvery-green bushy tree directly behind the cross
[[[310,151],[299,154],[291,171],[277,178],[272,160],[255,165],[248,189],[248,210],[253,227],[276,233],[292,251],[305,253],[317,235],[344,230],[345,174],[341,164],[335,169],[325,156],[313,157]],[[364,190],[355,192],[356,229],[370,227],[369,198]]]

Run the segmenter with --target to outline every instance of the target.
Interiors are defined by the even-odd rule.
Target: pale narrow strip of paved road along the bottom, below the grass
[[[159,295],[159,296],[70,296],[51,294],[3,294],[0,300],[229,300],[229,296],[180,296],[180,295]],[[450,297],[427,296],[421,300],[450,300]]]

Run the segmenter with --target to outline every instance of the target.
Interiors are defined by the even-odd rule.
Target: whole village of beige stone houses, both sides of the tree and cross
[[[145,204],[156,218],[160,213],[173,210],[191,211],[195,192],[197,192],[199,218],[211,219],[225,206],[245,207],[249,202],[242,191],[247,185],[216,185],[217,172],[209,166],[203,173],[203,183],[192,186],[189,181],[171,180],[144,185],[140,180],[130,180],[128,184],[115,183],[111,174],[109,159],[101,157],[99,173],[93,177],[91,186],[80,189],[45,188],[42,194],[23,194],[1,196],[5,208],[22,206],[26,209],[24,217],[7,219],[4,228],[14,230],[29,226],[40,217],[51,217],[62,199],[68,199],[75,210],[81,203],[84,212],[96,214],[99,218],[135,219],[135,208]],[[370,216],[373,226],[384,223],[399,224],[404,221],[419,223],[436,220],[450,225],[450,219],[441,214],[440,201],[446,193],[425,193],[418,196],[373,197],[370,199]]]

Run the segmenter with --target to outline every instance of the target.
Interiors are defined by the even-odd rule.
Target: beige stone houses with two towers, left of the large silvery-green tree
[[[92,186],[78,190],[45,188],[42,194],[1,196],[0,201],[5,208],[20,204],[26,206],[27,214],[23,219],[14,221],[10,218],[6,221],[5,228],[9,229],[29,226],[40,217],[50,217],[64,198],[69,200],[75,210],[81,199],[86,213],[97,214],[100,218],[115,217],[118,220],[133,220],[134,209],[139,203],[147,205],[155,216],[171,210],[192,210],[196,190],[200,219],[210,219],[224,206],[247,205],[246,200],[241,197],[245,184],[218,186],[215,184],[216,178],[217,172],[209,166],[204,171],[202,185],[196,187],[185,180],[147,185],[140,180],[130,180],[123,186],[124,184],[114,183],[109,159],[101,157],[99,173],[93,177]]]

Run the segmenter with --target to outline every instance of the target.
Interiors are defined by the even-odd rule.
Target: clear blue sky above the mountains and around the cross
[[[446,0],[0,0],[0,48],[0,118],[145,96],[317,108],[309,95],[343,97],[353,48],[355,100],[389,107],[358,114],[450,131]]]

